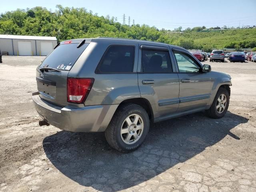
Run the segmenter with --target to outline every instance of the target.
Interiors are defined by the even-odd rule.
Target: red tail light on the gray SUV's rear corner
[[[93,78],[68,78],[67,97],[70,103],[83,103],[94,82]]]

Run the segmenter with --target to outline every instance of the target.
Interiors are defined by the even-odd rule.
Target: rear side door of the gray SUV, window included
[[[179,106],[179,79],[168,45],[139,44],[138,85],[154,111],[154,118],[176,112]]]

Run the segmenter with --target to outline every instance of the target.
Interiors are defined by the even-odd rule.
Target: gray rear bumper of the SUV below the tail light
[[[46,102],[38,94],[32,96],[40,117],[49,124],[71,132],[103,132],[106,130],[118,104],[76,108],[60,107]]]

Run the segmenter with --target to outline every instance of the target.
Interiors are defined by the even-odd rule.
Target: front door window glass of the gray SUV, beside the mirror
[[[182,73],[196,73],[199,72],[200,67],[195,60],[183,52],[174,51],[174,55],[179,67],[179,72]]]

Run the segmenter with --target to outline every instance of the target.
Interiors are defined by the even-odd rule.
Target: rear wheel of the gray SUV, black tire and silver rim
[[[108,125],[108,144],[120,152],[132,152],[145,140],[150,121],[148,113],[137,104],[122,104]]]

